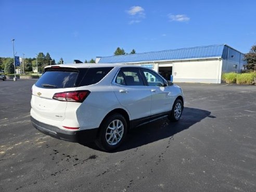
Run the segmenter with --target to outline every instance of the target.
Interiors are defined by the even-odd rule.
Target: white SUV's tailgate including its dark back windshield
[[[34,118],[63,121],[67,101],[53,99],[53,96],[56,93],[75,91],[84,72],[75,68],[46,68],[45,73],[32,87],[31,108]]]

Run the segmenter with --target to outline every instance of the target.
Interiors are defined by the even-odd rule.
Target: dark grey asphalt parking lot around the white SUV
[[[36,80],[0,81],[0,191],[256,191],[256,86],[182,83],[180,122],[132,130],[111,153],[30,122]]]

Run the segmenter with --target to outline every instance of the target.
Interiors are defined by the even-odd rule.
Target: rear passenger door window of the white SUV
[[[138,68],[133,67],[121,68],[115,82],[120,85],[127,86],[144,86],[143,79],[139,74]]]

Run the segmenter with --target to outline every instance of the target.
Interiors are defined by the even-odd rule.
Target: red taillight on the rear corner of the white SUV
[[[71,91],[71,92],[62,92],[55,93],[53,99],[60,101],[70,101],[83,103],[84,99],[90,94],[89,91]]]

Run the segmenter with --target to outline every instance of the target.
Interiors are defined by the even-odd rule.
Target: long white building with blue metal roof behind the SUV
[[[244,54],[226,45],[210,45],[138,54],[97,57],[97,63],[124,63],[149,67],[173,82],[221,83],[225,72],[240,72]]]

